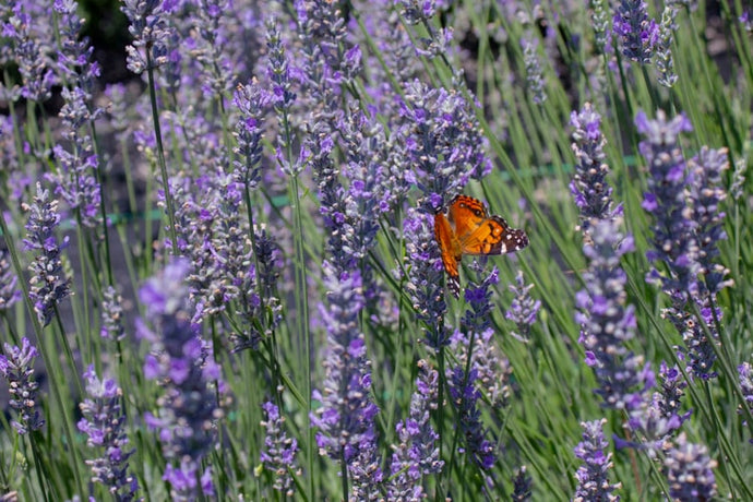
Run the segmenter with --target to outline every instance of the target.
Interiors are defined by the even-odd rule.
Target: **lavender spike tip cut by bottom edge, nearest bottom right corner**
[[[669,497],[680,501],[713,500],[716,466],[706,446],[689,443],[685,433],[681,433],[665,457]]]

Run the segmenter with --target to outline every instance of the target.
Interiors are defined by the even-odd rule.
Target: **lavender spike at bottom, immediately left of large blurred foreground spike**
[[[86,461],[92,468],[92,481],[107,487],[118,502],[129,502],[135,497],[139,481],[128,471],[128,459],[134,450],[128,447],[122,391],[115,380],[99,380],[94,366],[84,372],[84,379],[87,397],[79,405],[83,418],[76,426],[88,435],[88,447],[104,452]]]

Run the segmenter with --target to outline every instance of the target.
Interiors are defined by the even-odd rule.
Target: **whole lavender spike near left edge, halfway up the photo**
[[[29,297],[39,322],[46,326],[52,321],[58,302],[71,294],[61,259],[62,250],[68,246],[68,236],[62,243],[58,243],[55,236],[55,229],[60,225],[58,201],[50,199],[49,190],[43,190],[39,182],[34,203],[24,204],[23,207],[29,212],[24,246],[38,252],[28,266],[32,271]]]

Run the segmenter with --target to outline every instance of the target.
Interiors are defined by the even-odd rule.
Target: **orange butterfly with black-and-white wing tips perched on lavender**
[[[461,296],[458,265],[464,254],[504,254],[528,246],[525,231],[510,228],[501,216],[489,216],[481,201],[463,194],[452,200],[447,216],[434,214],[434,238],[455,298]]]

